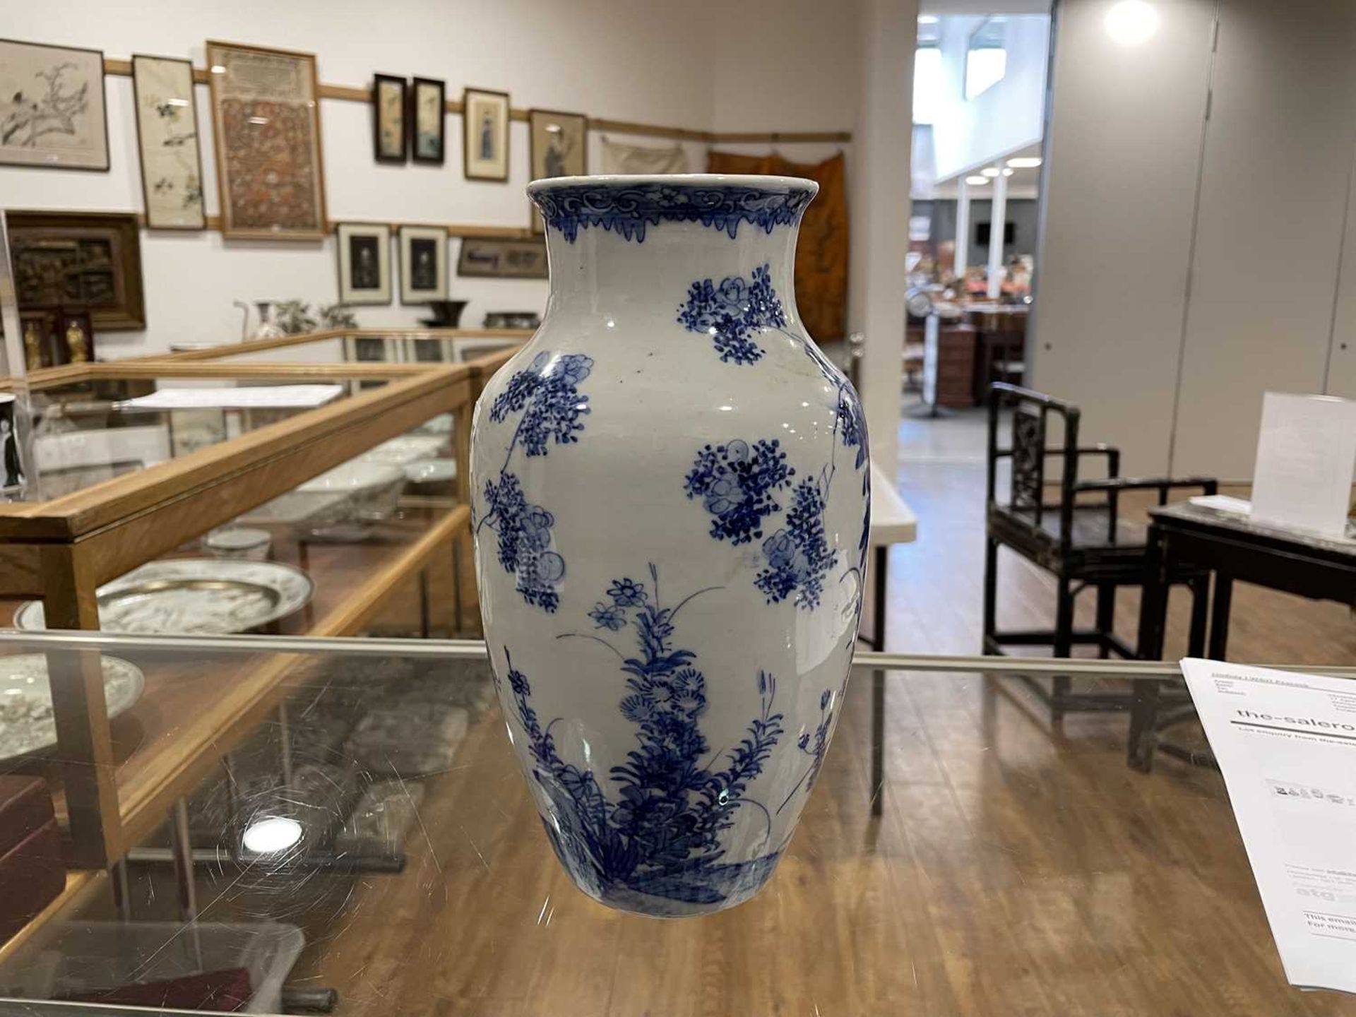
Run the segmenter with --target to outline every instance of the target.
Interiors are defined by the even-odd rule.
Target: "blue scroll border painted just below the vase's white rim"
[[[724,231],[731,239],[740,222],[772,233],[776,226],[795,224],[814,197],[808,187],[644,183],[545,188],[533,194],[533,201],[546,226],[559,229],[571,244],[579,231],[589,226],[616,231],[643,244],[645,228],[660,222],[701,222]]]

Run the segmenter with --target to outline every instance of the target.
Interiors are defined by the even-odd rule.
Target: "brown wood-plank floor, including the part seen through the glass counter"
[[[976,652],[983,468],[906,464],[919,541],[891,556],[890,648]],[[1050,583],[1003,559],[1008,625]],[[1170,650],[1182,643],[1174,605]],[[1132,636],[1136,603],[1117,621]],[[1341,607],[1235,593],[1238,660],[1356,663]],[[340,1014],[1356,1014],[1290,989],[1218,774],[1125,767],[1125,719],[1052,731],[978,675],[890,678],[884,816],[868,810],[869,682],[770,885],[660,922],[575,891],[551,854],[496,711],[428,780],[400,876],[302,883],[206,873],[216,914],[305,925],[293,984]]]

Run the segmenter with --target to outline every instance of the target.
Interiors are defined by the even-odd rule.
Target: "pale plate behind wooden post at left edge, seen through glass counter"
[[[141,698],[146,678],[141,669],[117,656],[100,658],[103,698],[110,720]],[[0,656],[0,759],[50,749],[57,743],[52,716],[47,658],[43,654]]]

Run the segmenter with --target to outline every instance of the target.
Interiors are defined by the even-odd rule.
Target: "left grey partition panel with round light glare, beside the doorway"
[[[1168,469],[1215,0],[1158,3],[1143,46],[1111,0],[1056,9],[1029,384],[1083,411],[1128,473]]]

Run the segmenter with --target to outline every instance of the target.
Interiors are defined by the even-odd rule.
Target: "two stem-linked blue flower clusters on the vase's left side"
[[[499,564],[515,578],[514,589],[523,601],[548,613],[560,605],[556,583],[565,575],[565,559],[552,549],[551,530],[556,517],[527,502],[509,464],[519,446],[525,456],[533,457],[545,456],[552,442],[572,445],[579,441],[584,430],[579,418],[589,412],[589,396],[580,395],[579,384],[589,377],[593,363],[593,358],[583,354],[552,361],[551,354],[542,351],[509,380],[490,407],[490,419],[495,423],[510,414],[522,412],[522,416],[514,427],[498,483],[485,480],[485,511],[476,522],[476,532],[488,526],[499,534]]]

